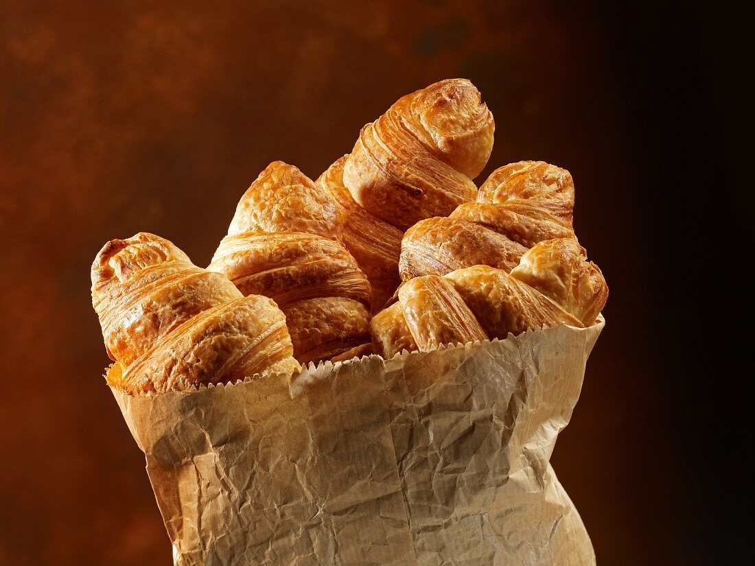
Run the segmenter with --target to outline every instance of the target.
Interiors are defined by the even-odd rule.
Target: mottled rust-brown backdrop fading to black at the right
[[[736,18],[720,4],[213,4],[0,2],[0,564],[170,561],[100,379],[100,246],[156,232],[206,265],[270,161],[316,177],[397,97],[455,76],[495,115],[480,180],[519,159],[569,168],[578,235],[611,286],[553,455],[599,563],[734,563],[751,537],[735,435],[753,241],[731,137]]]

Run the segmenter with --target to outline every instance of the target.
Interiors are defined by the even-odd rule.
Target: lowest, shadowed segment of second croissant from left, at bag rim
[[[306,364],[327,360],[369,340],[370,312],[344,297],[300,300],[282,307],[294,358]]]

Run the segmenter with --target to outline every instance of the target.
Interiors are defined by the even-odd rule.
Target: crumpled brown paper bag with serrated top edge
[[[113,389],[175,564],[594,564],[548,460],[602,330]]]

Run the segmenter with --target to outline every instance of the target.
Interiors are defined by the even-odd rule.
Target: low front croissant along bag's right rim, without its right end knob
[[[528,328],[582,323],[553,300],[501,269],[473,266],[424,275],[399,288],[399,302],[372,319],[375,352],[426,352],[443,343],[504,339]]]

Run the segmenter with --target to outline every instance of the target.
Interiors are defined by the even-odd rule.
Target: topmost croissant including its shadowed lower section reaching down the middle
[[[403,230],[475,198],[494,130],[474,85],[441,81],[362,128],[353,152],[317,180],[344,213],[342,239],[370,281],[373,314],[399,286]]]

